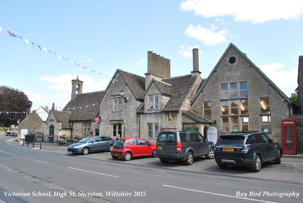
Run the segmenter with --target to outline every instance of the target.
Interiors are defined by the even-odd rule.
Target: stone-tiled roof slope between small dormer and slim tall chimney
[[[191,75],[162,79],[161,81],[171,84],[171,92],[173,92],[162,108],[162,112],[180,111],[196,80],[197,77]]]

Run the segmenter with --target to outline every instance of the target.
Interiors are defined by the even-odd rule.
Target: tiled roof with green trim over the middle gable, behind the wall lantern
[[[132,92],[136,100],[144,100],[144,92],[145,92],[145,77],[132,74],[129,72],[126,72],[121,69],[117,69],[114,76],[112,78],[115,78],[117,74],[120,74],[124,82],[126,83],[126,86],[128,86],[129,90]],[[119,82],[119,81],[118,81]],[[108,88],[110,87],[112,83],[109,83],[108,86],[105,89],[104,94],[107,92]],[[104,95],[99,100],[99,103],[102,101]]]

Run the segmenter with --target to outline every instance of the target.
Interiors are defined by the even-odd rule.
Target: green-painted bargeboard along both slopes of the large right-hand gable
[[[263,75],[263,74],[261,74],[261,72],[258,70],[258,68],[256,68],[248,59],[247,59],[247,57],[245,57],[241,52],[239,52],[238,51],[238,48],[236,48],[233,44],[231,44],[230,45],[230,47],[225,51],[225,54],[221,57],[221,59],[220,59],[220,61],[219,61],[219,63],[217,64],[217,66],[214,68],[214,70],[212,71],[212,73],[210,74],[210,76],[207,78],[207,80],[205,81],[205,83],[203,84],[203,86],[202,86],[202,88],[201,88],[201,90],[200,90],[200,92],[197,94],[197,96],[192,100],[192,102],[191,102],[191,106],[192,106],[192,104],[195,102],[195,100],[197,99],[197,97],[199,96],[199,94],[201,93],[201,92],[203,92],[203,88],[205,87],[205,85],[206,85],[206,83],[209,81],[209,79],[211,78],[211,76],[215,73],[215,72],[217,72],[217,68],[218,68],[218,66],[221,64],[221,62],[222,62],[222,60],[225,58],[225,56],[226,56],[226,54],[228,53],[228,51],[230,50],[230,48],[231,47],[233,47],[237,52],[238,52],[238,54],[240,54],[249,64],[250,64],[250,66],[249,67],[253,67],[268,83],[269,83],[269,85],[271,86],[271,87],[273,87],[274,88],[274,90],[276,90],[277,92],[278,92],[278,94],[280,94],[281,95],[281,97],[283,97],[283,99],[285,99],[285,100],[287,100],[287,103],[288,104],[291,104],[289,101],[288,101],[288,99],[286,99],[285,97],[284,97],[284,95],[280,92],[280,91],[278,91],[277,90],[277,88],[275,88],[274,87],[274,85]]]

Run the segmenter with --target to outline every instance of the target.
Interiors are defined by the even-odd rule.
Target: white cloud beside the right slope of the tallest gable
[[[293,84],[294,86],[298,85],[298,68],[293,68],[291,70],[285,71],[282,70],[285,68],[285,65],[281,63],[266,64],[258,67],[279,88],[280,86],[288,84]]]

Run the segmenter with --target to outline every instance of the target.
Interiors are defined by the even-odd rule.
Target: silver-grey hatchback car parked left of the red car
[[[90,152],[112,150],[115,140],[108,136],[89,136],[79,142],[68,146],[68,153],[82,153],[87,155]]]

